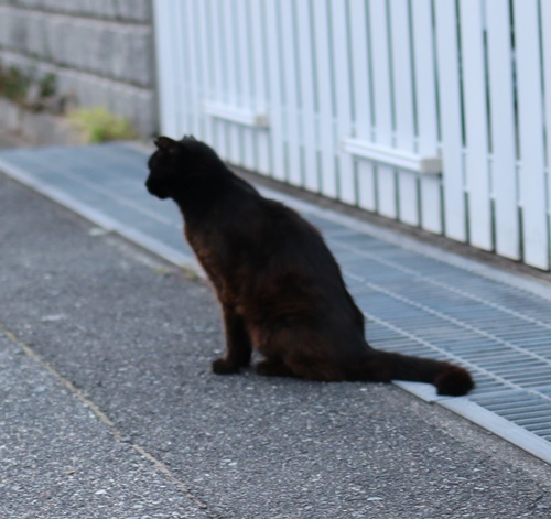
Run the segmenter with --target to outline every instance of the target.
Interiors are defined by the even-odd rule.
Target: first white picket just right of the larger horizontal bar
[[[445,235],[466,241],[463,139],[455,0],[434,2],[437,80],[442,129]]]

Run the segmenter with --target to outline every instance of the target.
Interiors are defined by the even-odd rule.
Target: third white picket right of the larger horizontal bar
[[[496,252],[520,258],[517,153],[508,0],[486,0]]]

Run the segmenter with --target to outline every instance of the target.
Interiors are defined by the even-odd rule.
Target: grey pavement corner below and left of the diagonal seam
[[[0,517],[208,517],[4,329],[0,401]]]

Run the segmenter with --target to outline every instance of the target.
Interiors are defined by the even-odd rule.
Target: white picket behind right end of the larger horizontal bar
[[[418,152],[421,155],[436,156],[439,154],[439,128],[431,0],[415,0],[411,2],[411,10]],[[442,233],[442,182],[432,175],[421,175],[420,183],[421,227],[440,234]]]

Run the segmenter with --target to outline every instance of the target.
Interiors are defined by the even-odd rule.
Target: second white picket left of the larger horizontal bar
[[[312,12],[311,2],[303,0],[296,2],[296,25],[299,26],[299,64],[301,87],[301,129],[304,158],[304,187],[318,192],[320,179],[317,171],[316,145],[316,84],[314,77],[314,50],[312,48]]]

